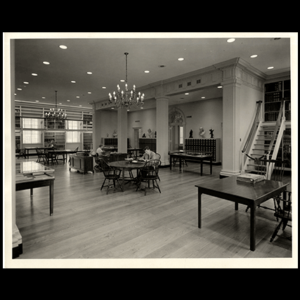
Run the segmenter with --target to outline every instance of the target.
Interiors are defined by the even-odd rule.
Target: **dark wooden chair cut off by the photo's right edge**
[[[282,226],[282,230],[285,230],[287,226],[292,227],[287,222],[292,222],[292,192],[285,191],[285,199],[275,198],[274,199],[275,213],[274,216],[277,219],[281,219],[279,225],[276,227],[272,237],[270,238],[270,242],[273,242],[280,227]],[[288,237],[289,240],[292,240],[292,236]]]

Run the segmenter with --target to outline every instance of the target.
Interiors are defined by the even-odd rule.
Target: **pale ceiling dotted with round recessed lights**
[[[58,37],[61,37],[57,34]],[[76,35],[76,34],[75,34]],[[64,34],[43,38],[37,34],[18,36],[12,53],[15,58],[15,99],[91,107],[89,103],[107,97],[125,79],[125,52],[128,52],[128,84],[147,86],[187,72],[240,57],[265,74],[290,68],[290,39],[285,34],[268,37],[163,37],[145,34],[137,38],[106,34]],[[38,37],[37,37],[38,36]],[[95,37],[96,36],[96,37]],[[108,37],[108,38],[107,38]],[[62,47],[65,46],[65,47]],[[256,58],[251,56],[256,55]],[[183,58],[183,60],[178,60]],[[268,69],[268,67],[273,67]],[[148,72],[145,72],[148,71]],[[35,74],[35,75],[34,75]],[[171,97],[170,104],[197,98],[221,97],[221,89],[204,89],[193,95]],[[145,95],[145,101],[147,95]]]

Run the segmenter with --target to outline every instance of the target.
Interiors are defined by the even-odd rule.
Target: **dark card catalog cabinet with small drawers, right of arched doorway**
[[[186,152],[211,152],[214,163],[221,162],[220,138],[185,138]]]

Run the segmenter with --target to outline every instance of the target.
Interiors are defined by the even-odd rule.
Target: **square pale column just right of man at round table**
[[[156,152],[161,155],[162,165],[169,164],[169,97],[156,98]]]

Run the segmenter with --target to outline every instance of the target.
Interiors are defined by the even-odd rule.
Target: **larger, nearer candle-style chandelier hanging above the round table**
[[[133,84],[133,89],[129,90],[127,85],[127,56],[129,53],[124,53],[126,56],[126,79],[125,79],[125,91],[121,91],[119,84],[117,85],[117,92],[109,93],[110,103],[113,103],[115,107],[127,107],[131,105],[135,107],[143,106],[145,95],[141,92],[136,93],[136,86]]]

